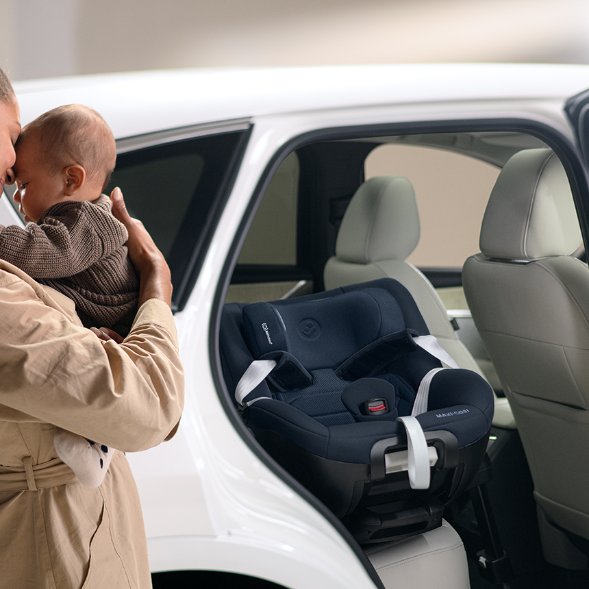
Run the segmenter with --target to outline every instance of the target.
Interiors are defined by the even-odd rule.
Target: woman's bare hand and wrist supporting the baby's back
[[[121,221],[127,231],[129,240],[129,258],[139,275],[139,306],[148,299],[160,299],[169,306],[172,304],[172,279],[170,268],[162,252],[151,239],[143,223],[131,218],[125,207],[123,193],[120,188],[115,188],[111,195],[112,214]]]

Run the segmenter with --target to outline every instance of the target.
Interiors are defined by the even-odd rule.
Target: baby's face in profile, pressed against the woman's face
[[[14,201],[21,205],[25,221],[36,223],[42,212],[63,200],[62,177],[45,161],[36,136],[27,136],[16,145],[14,175]]]

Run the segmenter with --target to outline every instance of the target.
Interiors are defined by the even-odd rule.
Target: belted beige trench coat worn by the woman
[[[101,342],[69,299],[0,260],[1,589],[151,587],[125,455],[99,488],[84,487],[58,459],[53,433],[144,450],[173,435],[183,402],[165,303],[142,305],[123,344]]]

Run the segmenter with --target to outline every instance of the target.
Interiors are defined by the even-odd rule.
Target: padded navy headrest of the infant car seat
[[[297,305],[252,303],[242,313],[255,358],[285,351],[307,370],[335,368],[374,340],[405,329],[399,304],[380,288]]]

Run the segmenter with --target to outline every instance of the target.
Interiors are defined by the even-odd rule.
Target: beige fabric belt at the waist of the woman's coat
[[[23,467],[0,466],[0,492],[38,491],[71,483],[77,479],[72,469],[59,458],[33,464],[30,456],[23,458]]]

